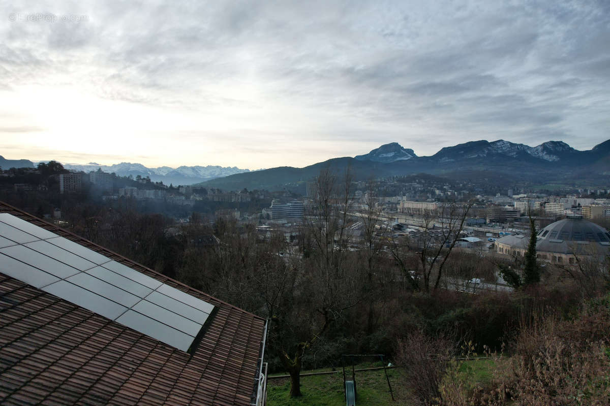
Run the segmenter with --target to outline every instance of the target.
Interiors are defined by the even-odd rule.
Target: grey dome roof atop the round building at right
[[[536,250],[553,253],[604,252],[610,250],[610,233],[588,220],[559,220],[538,232]]]

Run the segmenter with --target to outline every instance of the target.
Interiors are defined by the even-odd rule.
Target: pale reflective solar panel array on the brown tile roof
[[[9,213],[0,272],[187,351],[214,306]]]

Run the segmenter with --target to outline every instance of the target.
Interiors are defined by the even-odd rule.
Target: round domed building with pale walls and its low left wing
[[[496,240],[496,252],[524,256],[529,236],[514,235]],[[574,264],[578,256],[606,256],[610,254],[610,233],[595,223],[572,216],[551,223],[536,236],[539,259],[554,264]]]

